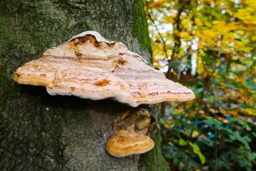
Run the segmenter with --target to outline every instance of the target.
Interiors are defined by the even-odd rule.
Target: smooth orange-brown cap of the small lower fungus
[[[146,135],[120,130],[106,142],[106,151],[115,157],[125,157],[146,153],[154,145],[154,141]]]

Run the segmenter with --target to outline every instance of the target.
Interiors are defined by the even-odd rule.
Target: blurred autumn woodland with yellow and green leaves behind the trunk
[[[165,102],[171,170],[256,170],[256,1],[148,0],[153,63],[195,92]]]

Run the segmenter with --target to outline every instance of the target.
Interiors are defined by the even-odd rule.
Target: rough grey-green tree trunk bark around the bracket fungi
[[[25,62],[86,30],[150,60],[142,0],[1,0],[0,9],[0,170],[167,169],[156,132],[154,149],[144,155],[106,153],[112,123],[128,106],[50,96],[12,79]]]

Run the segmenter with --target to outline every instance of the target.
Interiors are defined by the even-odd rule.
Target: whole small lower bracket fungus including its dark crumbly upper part
[[[131,109],[125,112],[113,124],[115,135],[106,142],[106,151],[115,157],[150,151],[154,147],[154,141],[144,134],[150,130],[154,121],[146,109]]]

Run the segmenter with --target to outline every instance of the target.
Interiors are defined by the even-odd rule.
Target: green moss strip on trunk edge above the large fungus
[[[148,49],[150,48],[150,37],[142,0],[137,1],[134,5],[133,15],[133,36],[138,38],[143,50]]]

